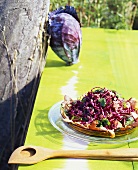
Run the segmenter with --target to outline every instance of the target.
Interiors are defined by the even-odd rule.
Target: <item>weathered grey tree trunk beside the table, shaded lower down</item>
[[[49,0],[0,0],[0,169],[24,144],[47,52]]]

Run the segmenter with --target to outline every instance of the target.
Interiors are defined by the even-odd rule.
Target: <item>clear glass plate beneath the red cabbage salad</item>
[[[67,123],[62,120],[62,116],[60,114],[60,106],[61,102],[54,104],[48,113],[48,118],[50,123],[61,133],[66,134],[70,137],[77,138],[82,141],[92,142],[92,143],[111,143],[111,144],[119,144],[119,143],[127,143],[138,140],[138,129],[136,129],[133,133],[129,135],[125,135],[122,137],[115,138],[104,138],[104,137],[94,137],[85,135],[80,133],[74,129],[72,129]]]

